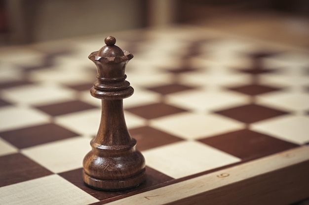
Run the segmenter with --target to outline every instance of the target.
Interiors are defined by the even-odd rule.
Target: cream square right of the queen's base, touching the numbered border
[[[240,161],[235,156],[195,141],[177,142],[142,153],[148,166],[174,178]]]

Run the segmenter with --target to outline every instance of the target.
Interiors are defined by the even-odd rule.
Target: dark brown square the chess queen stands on
[[[150,167],[146,167],[146,181],[142,184],[140,184],[138,187],[123,191],[99,191],[95,189],[91,189],[88,186],[84,184],[82,181],[82,169],[76,169],[69,172],[60,173],[60,176],[65,178],[66,180],[70,181],[74,185],[76,185],[78,188],[82,189],[83,191],[87,192],[88,194],[92,195],[93,197],[97,198],[98,200],[105,200],[110,199],[112,197],[116,197],[119,195],[123,195],[125,197],[125,194],[129,194],[132,192],[141,192],[143,189],[150,190],[152,186],[156,185],[155,188],[158,188],[159,184],[162,184],[164,182],[173,180],[174,178],[170,176],[166,176]]]

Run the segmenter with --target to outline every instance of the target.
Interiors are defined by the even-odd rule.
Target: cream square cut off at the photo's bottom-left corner
[[[58,175],[0,188],[1,205],[86,205],[98,201]]]

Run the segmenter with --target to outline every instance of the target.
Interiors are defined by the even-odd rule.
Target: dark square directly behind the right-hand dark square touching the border
[[[227,110],[217,111],[215,113],[226,117],[231,117],[245,123],[253,123],[271,117],[288,114],[287,112],[255,104],[234,107]]]

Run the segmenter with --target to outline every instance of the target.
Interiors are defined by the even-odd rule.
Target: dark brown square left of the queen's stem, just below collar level
[[[85,103],[85,102],[74,100],[74,101],[69,101],[69,102],[38,106],[36,108],[47,113],[48,115],[60,116],[60,115],[79,112],[83,110],[89,110],[89,109],[93,109],[97,107],[90,105],[88,103]]]

